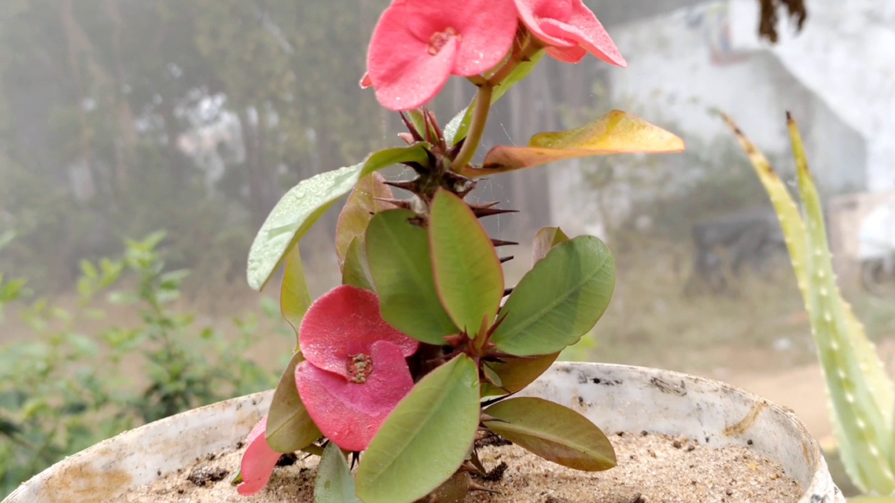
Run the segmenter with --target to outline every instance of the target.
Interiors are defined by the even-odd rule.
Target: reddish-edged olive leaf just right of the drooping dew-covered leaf
[[[336,255],[339,267],[345,263],[348,245],[354,238],[360,237],[363,242],[363,233],[366,232],[373,215],[385,209],[395,208],[388,202],[377,200],[392,198],[391,188],[385,184],[385,180],[379,173],[364,176],[345,201],[345,208],[339,214],[336,225]]]

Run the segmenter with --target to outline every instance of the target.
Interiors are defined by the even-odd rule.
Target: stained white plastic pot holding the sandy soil
[[[558,362],[520,395],[572,407],[607,432],[686,435],[708,447],[751,440],[751,449],[780,463],[805,488],[798,503],[845,501],[821,448],[794,413],[721,382],[643,367]],[[271,396],[242,396],[126,431],[47,468],[2,503],[114,498],[244,439]]]

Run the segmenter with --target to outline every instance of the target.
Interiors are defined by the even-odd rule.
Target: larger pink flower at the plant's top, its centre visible
[[[383,107],[421,107],[450,75],[499,64],[517,26],[512,0],[394,0],[373,30],[365,81]]]

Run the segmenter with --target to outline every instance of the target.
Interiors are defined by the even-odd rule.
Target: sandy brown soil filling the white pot
[[[609,436],[618,465],[584,473],[555,465],[515,445],[480,450],[490,476],[477,484],[495,492],[473,491],[466,503],[787,503],[802,494],[780,465],[750,448],[705,448],[688,439],[624,433]],[[268,486],[245,498],[229,480],[239,469],[244,448],[199,459],[106,503],[280,503],[313,502],[319,459],[283,459]]]

